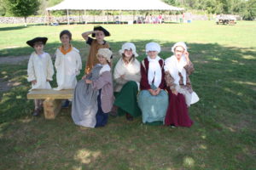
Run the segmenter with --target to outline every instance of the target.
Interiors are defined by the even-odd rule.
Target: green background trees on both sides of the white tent
[[[0,15],[22,16],[44,15],[45,8],[61,3],[62,0],[0,0]],[[163,0],[164,2],[200,10],[207,14],[239,14],[243,20],[256,18],[256,0]],[[65,14],[65,11],[56,11],[53,14]],[[96,14],[90,12],[89,14]]]

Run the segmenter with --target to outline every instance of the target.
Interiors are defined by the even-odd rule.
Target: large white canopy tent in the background
[[[64,0],[54,7],[46,8],[48,11],[67,10],[67,23],[69,10],[103,10],[103,11],[182,11],[160,0]]]

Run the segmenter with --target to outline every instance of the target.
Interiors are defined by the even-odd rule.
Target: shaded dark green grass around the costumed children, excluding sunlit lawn
[[[141,54],[139,60],[146,56],[145,44],[152,41],[156,40],[131,41]],[[84,48],[81,42],[76,43],[75,47]],[[115,54],[123,43],[110,42]],[[49,43],[49,49],[53,50],[56,44]],[[160,57],[166,59],[172,55],[172,44],[161,43]],[[17,72],[12,69],[9,77],[20,77],[24,86],[4,93],[0,102],[0,166],[3,169],[253,169],[256,49],[224,47],[218,43],[188,46],[195,65],[190,78],[201,99],[189,108],[195,121],[191,128],[148,127],[141,124],[141,118],[125,122],[124,117],[118,117],[110,118],[107,127],[80,129],[73,125],[70,110],[54,121],[32,118],[29,115],[32,101],[26,99],[29,89],[26,68],[16,68]],[[10,72],[8,67],[1,68],[1,77],[3,71]],[[23,118],[17,119],[20,116]]]

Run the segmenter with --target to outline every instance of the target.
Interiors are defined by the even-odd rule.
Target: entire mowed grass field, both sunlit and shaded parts
[[[110,117],[101,128],[73,124],[71,108],[55,120],[32,117],[26,99],[26,61],[0,63],[1,82],[12,88],[0,91],[0,169],[244,169],[256,168],[256,22],[217,26],[214,21],[191,24],[105,25],[112,36],[114,62],[124,42],[134,42],[142,60],[147,42],[159,42],[160,56],[171,56],[174,42],[189,46],[195,65],[191,81],[201,100],[189,108],[190,127],[148,126],[137,117]],[[54,56],[59,33],[73,33],[83,64],[88,46],[81,37],[93,25],[0,25],[0,58],[32,53],[26,41],[49,37],[45,51]],[[83,69],[84,69],[83,65]],[[81,74],[80,77],[83,75]],[[54,76],[55,77],[55,76]],[[2,84],[2,83],[1,83]],[[56,86],[55,80],[51,83]]]

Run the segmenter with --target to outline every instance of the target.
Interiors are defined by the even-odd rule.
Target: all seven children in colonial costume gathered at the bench
[[[164,60],[158,55],[160,45],[149,42],[146,44],[147,57],[140,63],[136,59],[136,46],[126,42],[119,50],[121,58],[112,76],[113,53],[104,40],[108,36],[110,33],[102,26],[82,34],[90,45],[90,52],[84,77],[77,82],[76,76],[82,69],[79,50],[70,43],[70,31],[61,31],[61,47],[55,53],[58,87],[54,89],[74,88],[73,122],[83,127],[103,127],[108,123],[108,114],[125,115],[129,121],[142,115],[143,123],[190,127],[193,122],[188,108],[199,99],[189,81],[194,67],[186,44],[174,44],[172,57]],[[51,88],[49,81],[52,81],[54,69],[49,54],[44,52],[46,41],[46,37],[37,37],[27,42],[35,49],[27,69],[27,80],[32,82],[32,89]],[[35,100],[34,116],[42,111],[42,102]],[[69,100],[64,104],[67,105]]]

